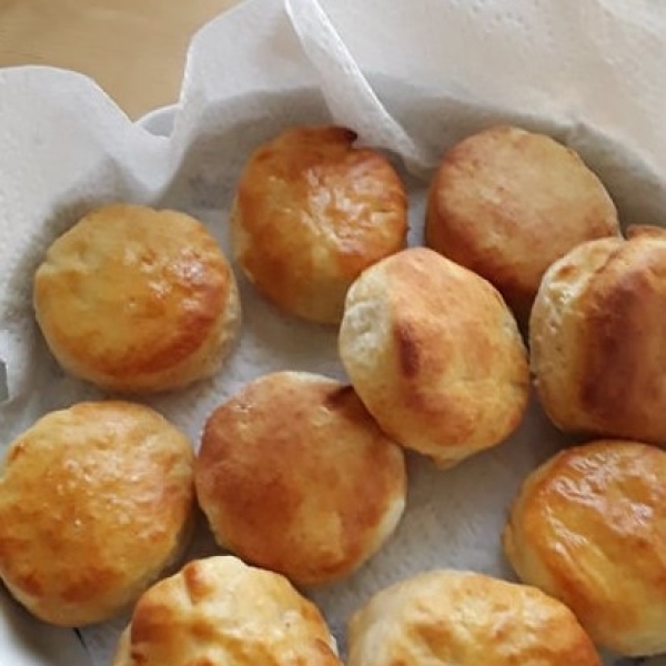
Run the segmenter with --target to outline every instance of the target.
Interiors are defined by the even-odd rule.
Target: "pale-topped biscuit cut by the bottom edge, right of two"
[[[574,614],[534,587],[433,571],[380,592],[350,623],[347,666],[601,666]]]

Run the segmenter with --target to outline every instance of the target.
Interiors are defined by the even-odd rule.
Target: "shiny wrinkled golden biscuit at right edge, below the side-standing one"
[[[525,481],[504,548],[518,576],[562,599],[599,645],[666,652],[664,451],[598,441],[559,453]]]

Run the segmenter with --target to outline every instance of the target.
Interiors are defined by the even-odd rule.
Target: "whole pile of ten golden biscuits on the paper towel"
[[[48,349],[107,396],[43,415],[0,475],[0,578],[34,616],[130,612],[113,666],[340,665],[307,599],[392,536],[405,454],[445,470],[502,445],[532,386],[572,446],[497,535],[519,582],[423,572],[350,618],[349,666],[598,666],[666,652],[666,232],[620,231],[581,157],[491,127],[444,152],[423,242],[379,150],[340,127],[258,147],[233,258],[183,212],[118,203],[34,275]],[[335,326],[347,381],[259,376],[190,441],[143,397],[222,375],[236,275]],[[574,445],[575,442],[575,445]],[[201,509],[220,554],[185,562]]]

